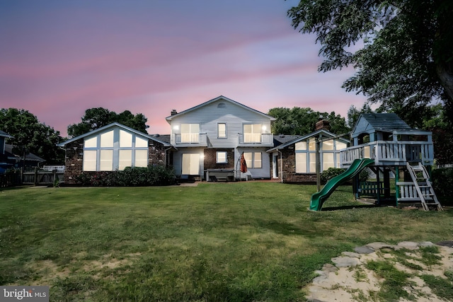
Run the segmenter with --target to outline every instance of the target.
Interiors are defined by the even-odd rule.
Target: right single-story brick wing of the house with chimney
[[[349,139],[329,132],[328,121],[321,120],[316,123],[315,132],[268,149],[273,158],[273,178],[282,182],[316,182],[316,141],[319,141],[320,172],[340,168],[340,150],[348,146]]]

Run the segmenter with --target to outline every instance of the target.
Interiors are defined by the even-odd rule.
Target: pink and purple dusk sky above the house
[[[284,0],[0,1],[0,108],[25,109],[67,135],[88,108],[165,117],[224,95],[268,112],[346,117],[365,97],[319,73],[320,45],[294,30]]]

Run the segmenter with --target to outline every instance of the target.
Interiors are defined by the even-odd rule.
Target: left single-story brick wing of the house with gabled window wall
[[[171,144],[114,122],[64,141],[64,182],[75,184],[81,173],[96,174],[126,167],[171,165]]]

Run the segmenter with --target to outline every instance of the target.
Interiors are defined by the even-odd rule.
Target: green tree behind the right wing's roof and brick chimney
[[[341,134],[349,132],[345,118],[335,112],[317,112],[310,108],[272,108],[268,115],[275,117],[272,132],[275,134],[304,135],[315,131],[316,122],[326,119],[331,126],[331,132]]]

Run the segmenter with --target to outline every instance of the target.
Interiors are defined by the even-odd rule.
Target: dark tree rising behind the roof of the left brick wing
[[[142,113],[133,115],[129,110],[120,114],[109,111],[105,108],[91,108],[85,110],[85,115],[81,117],[79,124],[70,124],[67,128],[69,137],[77,137],[94,129],[101,128],[113,122],[124,124],[127,127],[136,129],[139,132],[147,133],[147,117]]]

